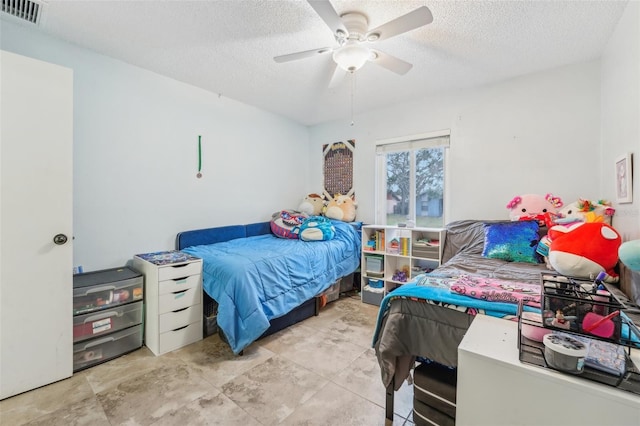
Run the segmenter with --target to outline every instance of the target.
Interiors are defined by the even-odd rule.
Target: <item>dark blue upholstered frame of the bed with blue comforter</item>
[[[176,236],[176,249],[182,250],[183,248],[204,244],[222,243],[229,240],[235,240],[237,238],[247,238],[257,235],[264,235],[271,233],[271,225],[269,222],[257,222],[248,225],[230,225],[221,226],[218,228],[206,228],[197,229],[193,231],[180,232]],[[202,298],[204,324],[203,336],[207,337],[216,332],[221,334],[221,330],[218,330],[215,325],[215,313],[217,312],[217,302],[213,300],[204,290]],[[260,337],[266,337],[283,328],[296,324],[309,317],[318,315],[320,310],[320,298],[313,297],[297,308],[293,309],[288,314],[274,318],[270,321],[270,327]],[[213,323],[213,324],[212,324]],[[221,337],[225,337],[221,334]]]

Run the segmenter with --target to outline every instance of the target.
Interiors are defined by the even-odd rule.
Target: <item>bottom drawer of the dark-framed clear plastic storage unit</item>
[[[73,371],[100,364],[142,347],[142,325],[73,345]]]

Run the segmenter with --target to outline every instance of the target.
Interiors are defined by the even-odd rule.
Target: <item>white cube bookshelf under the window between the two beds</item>
[[[440,266],[442,228],[362,227],[362,301],[379,305],[382,298],[416,275]]]

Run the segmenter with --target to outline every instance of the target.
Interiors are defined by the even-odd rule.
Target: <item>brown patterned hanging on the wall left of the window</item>
[[[322,146],[324,156],[324,195],[353,195],[353,152],[356,141],[334,142]]]

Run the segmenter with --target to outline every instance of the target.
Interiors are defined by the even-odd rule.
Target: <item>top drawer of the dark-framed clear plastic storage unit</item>
[[[143,300],[144,277],[127,267],[73,276],[73,315]]]

